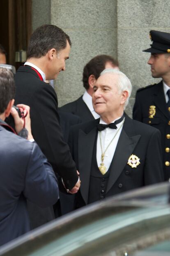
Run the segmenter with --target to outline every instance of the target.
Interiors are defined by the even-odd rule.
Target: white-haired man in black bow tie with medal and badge
[[[100,119],[72,127],[69,139],[82,181],[76,207],[163,181],[159,130],[124,114],[130,80],[118,70],[104,70],[93,89]]]

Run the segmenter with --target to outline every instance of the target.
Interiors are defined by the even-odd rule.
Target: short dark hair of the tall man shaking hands
[[[42,25],[31,35],[27,50],[27,58],[40,58],[55,48],[57,52],[66,48],[67,40],[71,46],[71,40],[61,28],[55,25]]]

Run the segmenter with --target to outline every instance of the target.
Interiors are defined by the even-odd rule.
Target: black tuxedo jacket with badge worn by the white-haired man
[[[76,196],[78,207],[88,202],[97,123],[99,123],[99,119],[77,125],[71,129],[69,145],[81,179],[80,193]],[[136,168],[127,164],[132,154],[140,158],[140,164]],[[106,197],[162,181],[161,135],[159,130],[131,120],[126,115],[113,157]]]

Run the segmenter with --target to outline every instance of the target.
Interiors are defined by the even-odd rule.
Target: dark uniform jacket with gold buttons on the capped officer
[[[150,106],[156,107],[153,118],[151,118],[152,116],[149,118]],[[170,153],[166,152],[165,148],[170,148],[170,139],[166,137],[166,134],[170,134],[170,112],[166,106],[162,81],[159,84],[138,89],[133,107],[133,119],[160,130],[164,178],[168,180],[170,178],[170,166],[166,166],[165,162],[170,162]]]

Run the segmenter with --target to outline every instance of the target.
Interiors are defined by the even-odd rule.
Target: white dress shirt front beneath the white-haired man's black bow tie
[[[119,117],[120,118],[120,117]],[[115,122],[116,120],[118,120],[119,118],[115,119],[113,122]],[[113,123],[112,122],[112,123]],[[117,129],[111,129],[111,128],[106,128],[101,132],[98,132],[98,136],[97,136],[97,145],[96,145],[96,159],[97,159],[97,165],[98,167],[100,167],[101,165],[101,154],[102,154],[102,150],[101,150],[101,145],[102,145],[102,149],[103,152],[106,150],[108,144],[110,143],[110,141],[113,139],[113,137],[115,136],[115,138],[113,139],[113,141],[111,142],[111,144],[109,145],[108,149],[106,150],[105,153],[105,157],[103,160],[103,164],[106,167],[106,171],[108,171],[110,164],[112,162],[113,156],[115,154],[115,150],[117,147],[117,142],[119,140],[119,136],[122,132],[122,127],[123,127],[123,123],[124,123],[124,119],[122,120],[122,122],[120,122],[119,124],[116,124]],[[101,118],[100,118],[100,122],[99,124],[106,124],[106,122],[104,122]],[[121,127],[122,126],[122,127]],[[120,128],[121,127],[121,128]],[[119,129],[120,128],[120,129]],[[117,130],[119,129],[119,131],[117,132]],[[101,144],[100,144],[100,136],[99,133],[101,133]]]

